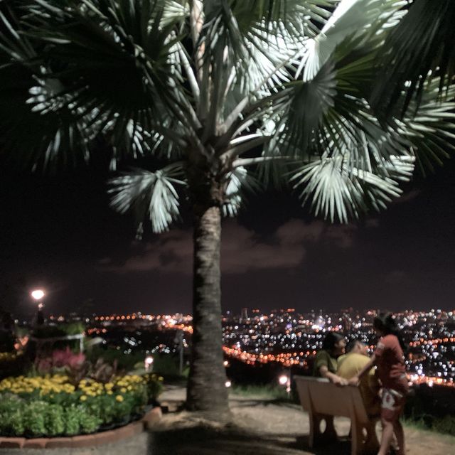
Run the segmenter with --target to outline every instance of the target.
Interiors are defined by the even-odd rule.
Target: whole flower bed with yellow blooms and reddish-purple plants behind
[[[6,373],[11,371],[11,373]],[[0,437],[74,437],[122,427],[156,406],[163,378],[65,349],[0,353]],[[7,377],[5,377],[8,375]]]

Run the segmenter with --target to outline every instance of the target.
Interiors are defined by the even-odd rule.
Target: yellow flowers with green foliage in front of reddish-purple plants
[[[68,375],[6,378],[0,382],[0,434],[55,437],[90,434],[141,417],[161,390],[155,375],[123,375],[110,382]]]

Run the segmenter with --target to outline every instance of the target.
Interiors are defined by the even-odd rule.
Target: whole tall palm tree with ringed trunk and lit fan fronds
[[[4,150],[56,168],[112,144],[112,206],[155,232],[193,212],[193,348],[187,405],[228,410],[220,306],[222,215],[282,183],[346,222],[400,196],[420,157],[444,155],[453,87],[425,87],[381,126],[368,99],[397,0],[2,2]],[[398,109],[400,106],[398,107]]]

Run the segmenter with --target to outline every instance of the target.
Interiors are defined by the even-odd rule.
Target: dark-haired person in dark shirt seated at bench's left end
[[[322,350],[314,359],[313,375],[327,378],[337,385],[348,385],[348,381],[336,374],[338,368],[337,358],[345,353],[346,341],[336,332],[328,332],[322,343]]]

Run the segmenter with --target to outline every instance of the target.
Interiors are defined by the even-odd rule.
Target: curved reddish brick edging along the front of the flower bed
[[[73,437],[55,437],[55,438],[18,438],[18,437],[0,437],[0,448],[16,449],[60,449],[63,447],[79,448],[100,446],[117,442],[122,439],[136,436],[145,429],[151,429],[156,422],[161,419],[161,407],[157,406],[146,412],[137,422],[124,425],[117,429],[111,429],[107,432],[94,434],[80,434]]]

